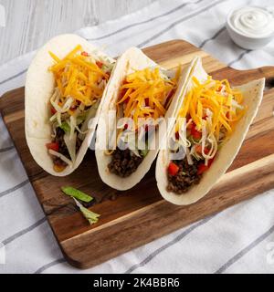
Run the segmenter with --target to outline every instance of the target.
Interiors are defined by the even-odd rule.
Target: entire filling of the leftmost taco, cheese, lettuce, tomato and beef
[[[54,75],[55,89],[49,99],[52,141],[46,147],[52,156],[54,170],[62,172],[75,162],[113,63],[108,58],[90,56],[80,45],[62,59],[52,52],[49,54],[54,60],[48,70]]]

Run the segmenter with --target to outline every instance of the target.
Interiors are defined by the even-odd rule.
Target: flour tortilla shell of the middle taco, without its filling
[[[186,66],[182,70],[182,75],[179,80],[178,89],[176,90],[173,100],[169,109],[165,114],[165,118],[171,116],[174,112],[174,109],[177,106],[177,102],[180,99],[180,95],[182,90],[184,90],[184,84],[186,79],[189,77],[191,73],[191,69],[194,67],[196,58],[191,62],[190,65]],[[146,172],[149,171],[154,159],[157,156],[159,151],[160,142],[156,143],[158,145],[155,150],[150,150],[148,154],[144,157],[142,163],[139,165],[137,170],[133,172],[130,176],[126,178],[122,178],[114,173],[111,173],[108,168],[108,164],[111,162],[111,155],[106,155],[104,151],[104,141],[106,140],[104,132],[104,122],[108,122],[108,113],[110,110],[116,110],[116,102],[119,97],[119,89],[121,87],[121,82],[123,79],[132,73],[132,68],[137,70],[142,70],[143,68],[153,68],[157,66],[152,59],[147,57],[142,53],[142,51],[136,47],[129,48],[121,57],[118,59],[116,66],[113,72],[113,78],[111,82],[108,84],[107,88],[107,100],[102,106],[100,120],[98,124],[97,130],[97,138],[96,138],[96,160],[98,164],[98,170],[100,173],[100,178],[104,183],[107,183],[112,188],[116,190],[128,190],[132,188],[136,183],[139,183],[142,180],[142,177],[145,175]],[[163,68],[161,68],[164,70]],[[116,127],[115,123],[110,122],[110,131]],[[163,124],[160,124],[159,132],[165,135],[165,131],[163,129]],[[165,137],[161,137],[165,138]],[[155,141],[155,139],[154,139]]]

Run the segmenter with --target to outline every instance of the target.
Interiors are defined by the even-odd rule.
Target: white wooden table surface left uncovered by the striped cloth
[[[42,46],[52,36],[98,25],[153,1],[0,0],[5,7],[5,27],[0,27],[0,65]]]

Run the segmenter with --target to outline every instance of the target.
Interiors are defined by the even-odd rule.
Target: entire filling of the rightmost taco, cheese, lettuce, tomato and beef
[[[242,103],[242,93],[231,89],[227,79],[219,81],[208,76],[200,83],[192,78],[171,141],[172,152],[182,151],[184,158],[174,159],[168,165],[168,192],[186,193],[199,183],[216,152],[245,114],[247,109]]]

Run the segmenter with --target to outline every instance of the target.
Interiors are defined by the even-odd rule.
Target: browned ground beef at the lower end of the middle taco
[[[109,170],[111,173],[115,173],[121,177],[130,176],[142,162],[142,157],[135,155],[129,149],[116,149],[111,157],[111,162],[108,165]]]

